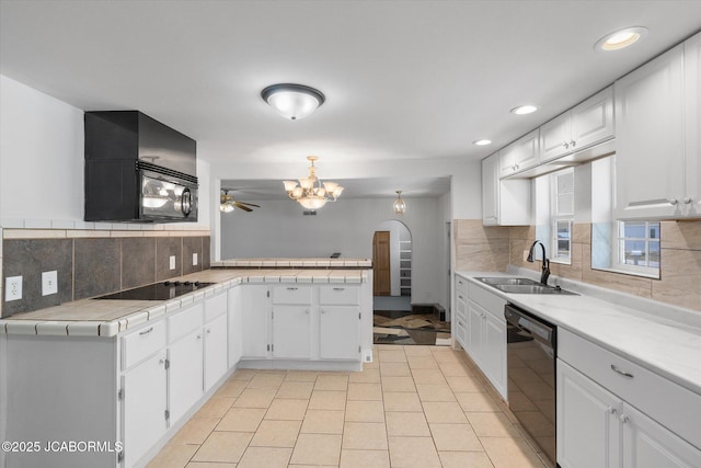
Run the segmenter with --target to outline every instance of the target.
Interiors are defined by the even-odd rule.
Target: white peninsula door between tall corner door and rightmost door
[[[311,356],[311,305],[273,308],[273,356],[308,359]]]

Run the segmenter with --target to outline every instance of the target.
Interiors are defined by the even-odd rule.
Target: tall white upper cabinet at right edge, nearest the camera
[[[699,217],[697,34],[616,82],[617,217]]]

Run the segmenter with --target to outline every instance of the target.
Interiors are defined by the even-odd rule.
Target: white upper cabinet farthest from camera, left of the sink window
[[[499,152],[482,160],[482,224],[526,226],[530,224],[530,181],[501,180]]]

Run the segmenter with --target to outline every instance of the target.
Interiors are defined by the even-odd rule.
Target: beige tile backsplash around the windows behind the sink
[[[482,226],[481,219],[455,221],[456,270],[505,272],[509,263],[540,271],[524,252],[536,239],[535,226]],[[551,263],[553,275],[701,311],[701,220],[662,221],[660,278],[591,269],[591,225],[575,224],[572,264]],[[507,254],[504,254],[504,251]]]

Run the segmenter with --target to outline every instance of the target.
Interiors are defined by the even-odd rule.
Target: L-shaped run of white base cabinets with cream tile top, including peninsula
[[[7,466],[143,466],[235,368],[360,370],[372,359],[370,264],[225,261],[172,278],[214,283],[173,299],[83,299],[0,320],[8,440],[112,443],[10,452]]]

